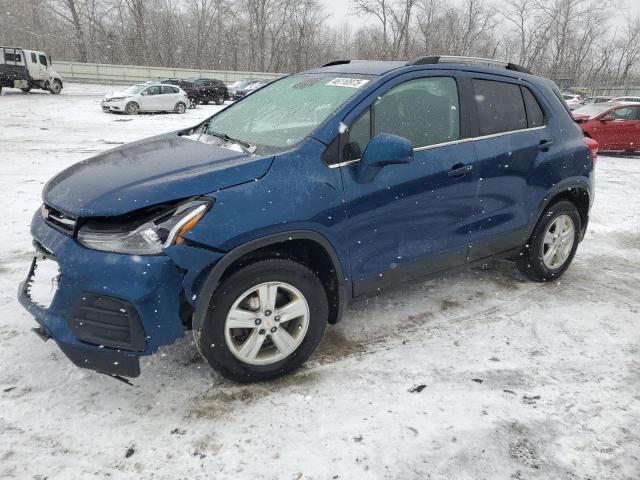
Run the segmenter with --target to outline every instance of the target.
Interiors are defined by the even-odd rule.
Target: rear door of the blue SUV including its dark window
[[[473,74],[477,122],[479,211],[471,230],[469,260],[520,248],[531,222],[532,173],[554,148],[533,85],[517,79]]]

